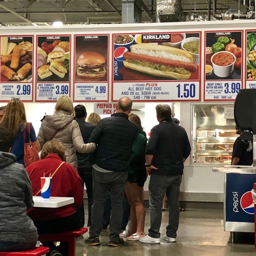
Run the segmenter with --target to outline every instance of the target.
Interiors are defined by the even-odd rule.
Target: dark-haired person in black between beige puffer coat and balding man
[[[87,117],[86,108],[83,105],[75,106],[76,121],[79,124],[80,131],[82,133],[84,143],[88,143],[88,140],[93,132],[95,125],[87,123],[85,121]],[[78,159],[78,174],[85,183],[86,193],[88,197],[88,222],[87,227],[91,225],[91,206],[93,205],[93,167],[89,162],[88,154],[81,154],[76,152]],[[84,184],[83,183],[83,184]],[[84,212],[83,212],[84,214]]]

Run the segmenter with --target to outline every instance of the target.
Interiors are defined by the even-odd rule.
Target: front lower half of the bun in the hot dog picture
[[[150,67],[143,67],[140,65],[136,65],[133,63],[129,63],[127,61],[123,61],[123,64],[125,67],[127,68],[131,68],[149,75],[153,75],[153,76],[162,76],[162,77],[166,77],[166,78],[172,78],[172,79],[177,79],[177,80],[186,80],[189,79],[191,76],[191,73],[187,74],[187,75],[182,75],[182,74],[178,74],[176,72],[169,72],[169,71],[160,71],[154,68],[150,68]]]

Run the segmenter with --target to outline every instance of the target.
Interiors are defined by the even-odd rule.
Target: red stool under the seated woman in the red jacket
[[[39,234],[39,241],[60,241],[68,242],[68,256],[76,255],[76,238],[82,236],[88,231],[86,227],[82,227],[75,231],[63,232],[58,234]]]

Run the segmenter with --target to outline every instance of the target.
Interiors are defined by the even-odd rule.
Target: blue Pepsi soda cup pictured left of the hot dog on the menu
[[[121,35],[120,35],[121,36]],[[114,81],[120,81],[123,80],[123,77],[121,74],[119,74],[119,69],[124,65],[124,53],[130,51],[130,46],[134,44],[134,37],[133,35],[129,35],[129,37],[132,37],[132,41],[127,44],[116,44],[114,42],[114,54],[113,54],[113,61],[114,61]]]

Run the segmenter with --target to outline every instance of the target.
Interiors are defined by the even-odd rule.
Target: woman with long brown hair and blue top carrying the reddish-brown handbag
[[[29,138],[29,123],[27,123],[26,112],[23,102],[19,99],[12,99],[8,102],[5,108],[5,114],[0,122],[0,126],[10,131],[11,136],[14,138],[14,144],[11,153],[16,156],[16,161],[24,165],[24,143],[35,142],[37,150],[40,151],[41,147],[35,135],[33,125],[30,123],[30,138]],[[25,142],[23,138],[23,131],[26,131]]]

